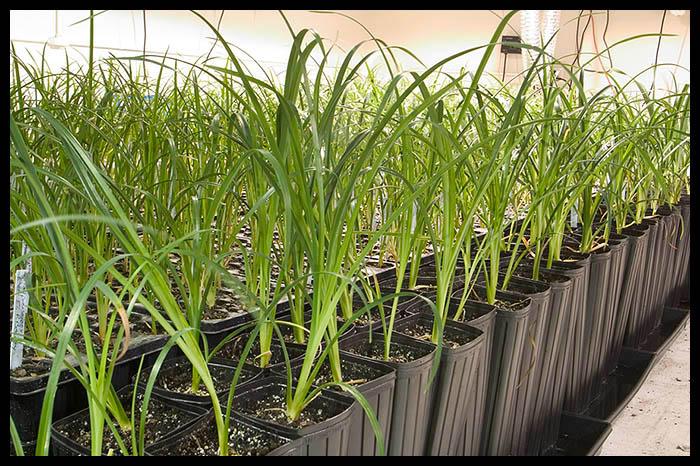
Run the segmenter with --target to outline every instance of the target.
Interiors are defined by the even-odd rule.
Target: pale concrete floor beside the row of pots
[[[690,456],[690,321],[612,425],[601,456]]]

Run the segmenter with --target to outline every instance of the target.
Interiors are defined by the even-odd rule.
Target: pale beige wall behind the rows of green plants
[[[377,38],[389,45],[401,46],[410,50],[426,66],[438,62],[454,53],[488,43],[505,10],[338,10],[350,16],[369,29]],[[557,37],[554,53],[563,61],[570,62],[576,50],[576,17],[580,10],[564,10],[561,14],[561,31]],[[586,10],[586,13],[588,10]],[[216,25],[221,10],[200,10],[200,13]],[[663,10],[611,10],[606,33],[608,45],[636,34],[658,33]],[[32,10],[10,12],[10,39],[23,53],[24,49],[40,50],[41,45],[60,33],[64,44],[70,44],[71,57],[80,61],[80,55],[87,54],[88,23],[71,25],[88,15],[87,10]],[[311,28],[317,31],[338,53],[335,59],[343,57],[354,45],[370,39],[368,32],[353,20],[338,14],[321,14],[302,10],[285,10],[291,27],[298,31]],[[202,20],[188,11],[146,10],[146,51],[156,54],[168,50],[171,56],[194,60],[206,55],[211,48],[212,33]],[[580,21],[579,34],[588,20],[586,15]],[[606,24],[605,10],[595,10],[593,23],[585,31],[582,55],[583,63],[598,49],[605,48],[603,31]],[[595,39],[593,41],[593,29]],[[282,16],[273,10],[227,10],[219,27],[227,41],[249,52],[265,69],[281,72],[287,61],[291,35]],[[664,37],[659,51],[659,63],[680,63],[688,70],[673,67],[660,68],[657,72],[657,87],[670,81],[672,71],[681,83],[690,80],[690,11],[684,16],[666,14],[664,32],[675,37]],[[520,19],[516,14],[504,31],[507,35],[519,35]],[[612,66],[628,75],[635,75],[654,63],[658,37],[637,39],[614,47],[611,50]],[[144,45],[143,11],[116,10],[105,12],[95,18],[96,55],[106,56],[112,52],[117,56],[133,56],[140,53]],[[361,47],[362,52],[372,50],[371,43]],[[497,52],[500,48],[497,48]],[[55,66],[65,63],[65,48],[48,48],[47,59]],[[395,50],[396,58],[407,70],[421,70],[422,66],[409,54]],[[457,71],[462,66],[474,68],[481,58],[483,49],[466,54],[444,68]],[[223,56],[217,47],[214,55]],[[241,55],[249,66],[256,67],[252,60]],[[503,76],[504,55],[494,53],[487,71],[501,78]],[[608,54],[601,57],[602,66],[609,68]],[[375,54],[369,61],[379,66],[382,58]],[[516,76],[522,70],[522,62],[517,55],[509,55],[506,63],[506,78]],[[596,59],[587,69],[600,70],[601,63]],[[642,76],[645,85],[651,84],[653,74]],[[606,84],[603,75],[589,73],[587,87],[599,88]]]

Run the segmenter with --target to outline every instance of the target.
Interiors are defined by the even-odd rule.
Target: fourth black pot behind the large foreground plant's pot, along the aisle
[[[479,296],[486,289],[474,285]],[[493,345],[489,362],[489,381],[480,454],[507,455],[513,436],[516,417],[517,386],[520,382],[520,364],[528,338],[528,322],[532,300],[513,291],[497,291],[496,299],[504,303],[520,303],[516,309],[507,309],[496,303]]]

